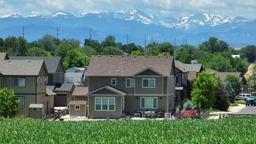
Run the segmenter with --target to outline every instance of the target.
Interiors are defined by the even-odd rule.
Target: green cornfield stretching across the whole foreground
[[[256,143],[256,118],[0,122],[0,143]]]

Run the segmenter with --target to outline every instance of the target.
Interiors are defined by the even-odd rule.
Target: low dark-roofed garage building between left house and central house
[[[56,93],[54,96],[54,107],[67,107],[74,91],[74,83],[59,83],[54,86],[47,86]]]

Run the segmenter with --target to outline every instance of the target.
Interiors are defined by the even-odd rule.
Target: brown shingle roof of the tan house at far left
[[[4,60],[0,61],[0,65],[0,73],[2,75],[36,76],[39,75],[39,72],[44,65],[44,61]]]

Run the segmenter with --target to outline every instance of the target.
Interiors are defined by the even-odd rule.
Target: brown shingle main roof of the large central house
[[[92,56],[88,76],[132,76],[150,68],[164,76],[171,75],[172,56]]]

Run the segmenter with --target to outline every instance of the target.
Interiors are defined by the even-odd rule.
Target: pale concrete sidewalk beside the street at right
[[[245,107],[246,105],[238,104],[238,106],[229,106],[228,111],[210,112],[210,115],[216,115],[216,116],[210,116],[208,119],[219,119],[219,113],[223,116],[223,115],[227,115],[228,113],[238,112]]]

